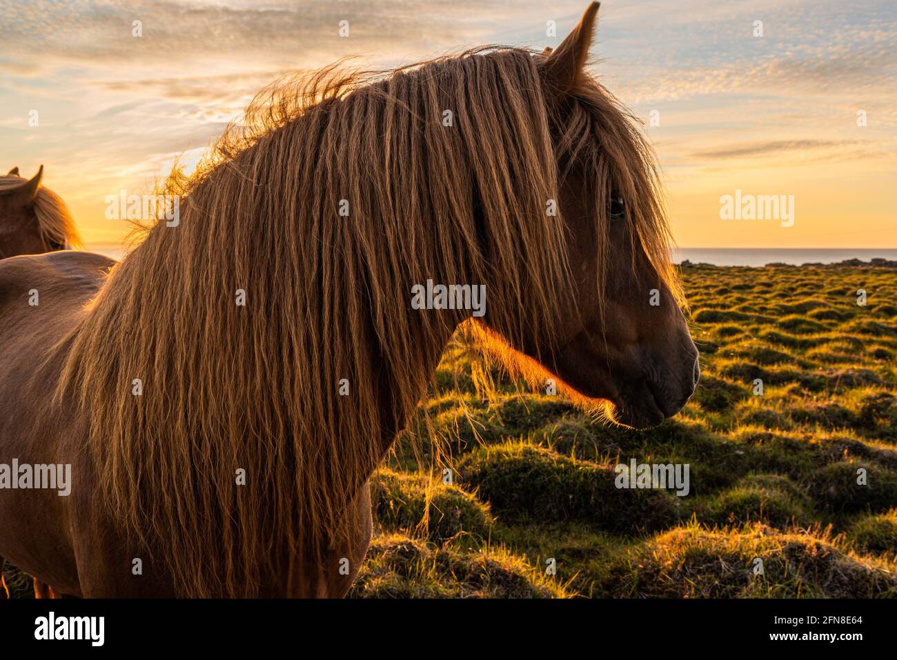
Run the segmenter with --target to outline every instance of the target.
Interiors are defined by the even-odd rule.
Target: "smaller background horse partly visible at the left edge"
[[[41,165],[34,178],[19,176],[19,168],[0,177],[0,259],[39,255],[78,245],[78,232],[65,202],[40,186]]]

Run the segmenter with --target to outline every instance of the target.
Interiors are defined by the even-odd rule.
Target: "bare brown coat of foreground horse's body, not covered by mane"
[[[0,262],[0,456],[20,464],[72,465],[79,483],[72,494],[53,490],[8,490],[0,497],[0,556],[28,571],[57,593],[75,596],[172,597],[178,594],[164,562],[158,563],[129,547],[100,499],[95,465],[84,451],[83,420],[48,416],[44,403],[53,396],[53,377],[62,369],[65,351],[34,368],[49,349],[64,341],[77,324],[84,305],[99,291],[111,259],[84,252],[19,256]],[[30,307],[30,289],[40,304]],[[29,511],[27,517],[22,511]],[[265,585],[263,596],[342,596],[351,586],[370,543],[370,492],[361,484],[346,515],[358,520],[359,534],[351,547],[329,552],[327,565],[349,560],[349,573],[328,574],[297,567],[292,583]],[[14,546],[9,542],[14,539]],[[136,579],[133,561],[141,559]]]

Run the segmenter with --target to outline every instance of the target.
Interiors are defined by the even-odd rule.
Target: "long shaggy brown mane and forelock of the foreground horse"
[[[172,172],[179,226],[147,228],[60,343],[57,401],[88,416],[110,514],[182,595],[256,595],[351,537],[347,508],[463,314],[412,309],[415,283],[489,282],[490,325],[552,345],[572,291],[545,213],[559,163],[585,159],[601,199],[614,179],[675,287],[645,143],[594,82],[553,137],[539,61],[489,47],[286,78]]]

